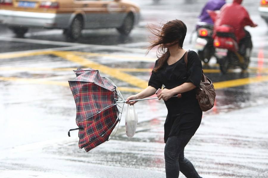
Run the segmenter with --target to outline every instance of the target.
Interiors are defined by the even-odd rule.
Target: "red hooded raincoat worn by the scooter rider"
[[[238,42],[245,36],[244,26],[254,26],[247,10],[241,6],[241,3],[242,0],[233,0],[233,4],[225,4],[217,15],[214,24],[214,27],[221,25],[232,26],[235,30],[235,36]]]

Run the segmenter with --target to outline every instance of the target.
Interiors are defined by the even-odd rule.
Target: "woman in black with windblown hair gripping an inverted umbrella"
[[[169,21],[157,32],[152,31],[156,39],[149,50],[158,46],[162,55],[155,62],[149,86],[127,98],[127,103],[133,105],[137,101],[129,100],[152,96],[158,88],[165,86],[157,97],[165,101],[168,110],[164,124],[166,178],[178,178],[180,171],[187,178],[201,178],[192,163],[184,157],[184,147],[197,131],[202,118],[202,110],[195,98],[195,88],[201,81],[202,64],[197,53],[182,48],[186,32],[187,27],[181,20]],[[184,61],[186,54],[187,65]],[[181,98],[171,98],[178,93],[181,93]]]

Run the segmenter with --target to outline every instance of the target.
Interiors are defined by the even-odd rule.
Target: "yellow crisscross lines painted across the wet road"
[[[77,54],[85,54],[81,52],[75,52]],[[122,71],[135,71],[135,72],[151,72],[151,69],[112,69],[110,67],[100,65],[98,63],[95,63],[93,61],[89,61],[88,59],[82,58],[80,56],[74,55],[73,52],[66,52],[66,51],[42,51],[42,52],[32,52],[32,53],[13,53],[13,54],[0,54],[0,59],[4,58],[17,58],[17,57],[25,57],[29,55],[44,55],[44,54],[53,54],[57,55],[59,57],[62,57],[68,61],[72,61],[75,63],[78,63],[84,67],[90,67],[94,69],[99,69],[103,73],[110,75],[113,78],[122,80],[124,82],[129,83],[130,85],[134,85],[139,88],[127,88],[127,87],[121,87],[120,89],[122,91],[127,92],[139,92],[142,89],[147,87],[147,81],[141,80],[137,77],[134,77],[132,75],[126,74]],[[86,53],[87,55],[89,53]],[[97,55],[98,53],[91,53],[92,55]],[[111,55],[101,55],[99,56],[111,56]],[[116,56],[116,55],[114,55]],[[116,56],[119,57],[119,56]],[[122,58],[127,58],[127,56],[121,56]],[[133,57],[136,58],[136,57]],[[137,57],[137,59],[140,57]],[[2,67],[0,69],[12,69],[8,67]],[[63,68],[63,69],[49,69],[49,68],[17,68],[19,70],[71,70],[75,68]],[[251,68],[254,71],[257,72],[268,72],[267,69],[261,69],[258,70],[257,67]],[[204,69],[205,73],[219,73],[218,69]],[[0,80],[6,80],[6,81],[22,81],[22,82],[28,82],[28,83],[35,83],[35,84],[47,84],[47,85],[61,85],[61,86],[68,86],[68,82],[59,82],[59,81],[48,81],[43,79],[23,79],[23,78],[15,78],[15,77],[0,77]],[[268,81],[268,76],[258,76],[258,77],[251,77],[251,78],[244,78],[244,79],[236,79],[236,80],[229,80],[229,81],[223,81],[223,82],[215,82],[214,86],[215,89],[223,89],[223,88],[229,88],[229,87],[237,87],[241,85],[247,85],[251,83],[257,83],[257,82],[265,82]]]

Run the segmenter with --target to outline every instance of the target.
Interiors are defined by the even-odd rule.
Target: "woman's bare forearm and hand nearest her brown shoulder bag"
[[[160,94],[157,95],[157,97],[159,100],[161,100],[162,98],[163,100],[166,101],[172,96],[177,95],[178,93],[184,93],[193,90],[194,88],[196,88],[196,86],[193,83],[187,82],[170,90],[165,88]]]

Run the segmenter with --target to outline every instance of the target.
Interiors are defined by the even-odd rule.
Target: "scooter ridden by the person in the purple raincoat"
[[[195,48],[198,50],[198,56],[201,61],[208,63],[214,55],[215,49],[213,46],[213,24],[205,22],[197,22],[197,39]]]

